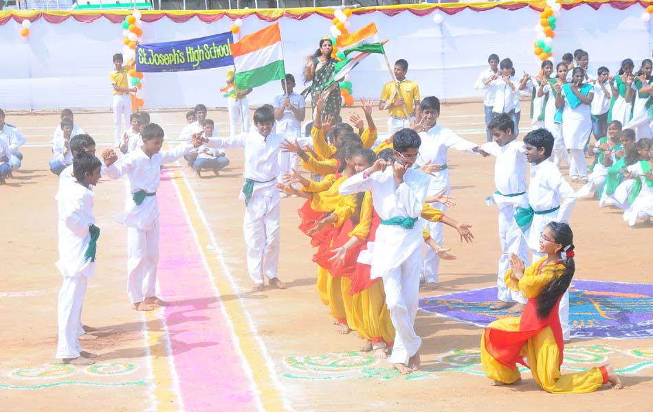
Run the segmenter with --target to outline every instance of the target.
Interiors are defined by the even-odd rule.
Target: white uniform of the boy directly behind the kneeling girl
[[[560,174],[560,170],[548,160],[537,165],[531,163],[531,182],[528,196],[529,205],[535,211],[546,211],[554,207],[560,207],[560,209],[548,214],[534,215],[531,227],[524,233],[533,255],[531,263],[535,263],[544,256],[543,253],[540,253],[540,233],[550,222],[568,223],[577,197],[571,185]],[[560,324],[562,325],[562,337],[567,341],[571,336],[568,290],[562,296],[558,312],[560,313]]]

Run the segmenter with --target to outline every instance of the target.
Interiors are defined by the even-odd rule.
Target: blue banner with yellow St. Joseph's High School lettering
[[[232,32],[136,46],[136,71],[188,71],[234,65]]]

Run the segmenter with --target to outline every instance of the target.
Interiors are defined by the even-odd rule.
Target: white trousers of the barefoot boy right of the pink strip
[[[279,266],[279,214],[278,192],[272,196],[252,196],[245,207],[243,232],[247,245],[247,271],[252,282],[263,284],[264,275],[268,279],[276,277]]]

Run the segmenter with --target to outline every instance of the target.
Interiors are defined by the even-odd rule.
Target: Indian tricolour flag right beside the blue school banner
[[[238,89],[251,89],[273,80],[286,78],[281,52],[279,23],[274,23],[230,45],[234,57]]]

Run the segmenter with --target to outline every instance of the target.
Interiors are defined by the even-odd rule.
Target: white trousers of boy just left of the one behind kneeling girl
[[[499,271],[496,277],[496,297],[504,302],[526,303],[526,298],[519,291],[515,292],[506,286],[505,275],[510,269],[510,255],[515,253],[524,262],[529,261],[529,247],[522,235],[522,230],[515,220],[515,207],[499,209],[499,242],[501,244],[501,257],[499,258]]]

